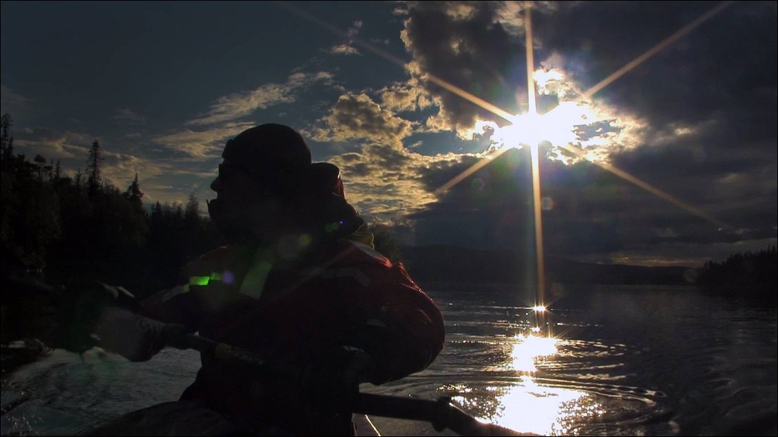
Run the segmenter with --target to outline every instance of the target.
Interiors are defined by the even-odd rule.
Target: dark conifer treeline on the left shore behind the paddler
[[[33,275],[54,285],[100,280],[139,297],[173,285],[187,260],[222,243],[191,194],[186,205],[147,211],[138,175],[121,190],[103,182],[100,143],[69,177],[59,160],[15,154],[13,120],[0,124],[0,256],[3,277]]]

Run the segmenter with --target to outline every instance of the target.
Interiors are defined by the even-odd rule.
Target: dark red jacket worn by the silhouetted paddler
[[[292,252],[304,244],[287,243]],[[440,310],[402,264],[346,239],[303,257],[276,256],[242,246],[212,250],[187,265],[180,286],[142,302],[142,313],[275,362],[306,363],[332,348],[361,348],[377,362],[373,383],[425,369],[442,350]],[[299,419],[283,418],[302,405],[286,393],[288,382],[254,379],[203,354],[191,389],[217,411]]]

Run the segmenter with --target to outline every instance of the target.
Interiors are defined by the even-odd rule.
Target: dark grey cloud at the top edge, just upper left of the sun
[[[403,40],[416,63],[412,72],[435,75],[515,114],[517,86],[527,82],[524,58],[517,56],[524,47],[495,19],[496,4],[491,2],[410,2]],[[471,128],[477,117],[498,118],[425,83],[440,96],[443,117],[454,128]]]

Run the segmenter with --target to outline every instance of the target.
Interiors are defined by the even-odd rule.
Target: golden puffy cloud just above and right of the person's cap
[[[403,138],[411,135],[413,123],[394,115],[375,103],[366,93],[345,93],[330,113],[310,132],[317,142],[363,140],[401,148]]]

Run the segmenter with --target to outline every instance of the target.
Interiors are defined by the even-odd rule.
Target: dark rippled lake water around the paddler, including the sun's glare
[[[431,289],[447,344],[428,369],[365,391],[453,397],[465,411],[542,435],[776,435],[776,310],[693,288],[557,290],[549,311],[505,287]],[[541,327],[533,333],[532,328]],[[2,378],[2,435],[67,435],[176,400],[198,354],[150,362],[54,351]],[[436,435],[373,418],[384,435]],[[452,435],[443,432],[443,435]]]

